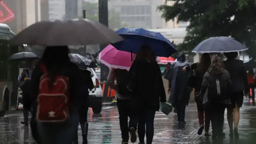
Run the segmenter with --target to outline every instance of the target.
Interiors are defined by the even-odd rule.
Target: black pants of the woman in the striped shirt
[[[226,108],[221,104],[211,104],[209,108],[213,135],[218,136],[223,132],[225,109]]]

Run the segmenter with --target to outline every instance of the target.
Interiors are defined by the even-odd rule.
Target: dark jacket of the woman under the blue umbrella
[[[129,70],[133,77],[133,94],[140,108],[159,111],[160,101],[166,102],[166,94],[160,67],[156,62],[135,60]],[[160,99],[160,100],[159,100]]]

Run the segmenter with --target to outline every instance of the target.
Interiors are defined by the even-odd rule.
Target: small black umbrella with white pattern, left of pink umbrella
[[[76,63],[80,68],[97,68],[92,60],[81,56],[80,54],[69,54],[72,62]]]

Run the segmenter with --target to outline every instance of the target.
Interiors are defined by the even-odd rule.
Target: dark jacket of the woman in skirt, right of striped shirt
[[[246,68],[242,60],[228,59],[224,61],[226,70],[230,73],[232,92],[249,92]]]

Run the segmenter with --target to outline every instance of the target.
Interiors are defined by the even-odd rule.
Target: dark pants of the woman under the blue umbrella
[[[144,143],[146,133],[146,144],[152,144],[154,136],[154,119],[156,110],[140,109],[138,121],[138,136],[140,143]],[[146,129],[145,129],[146,124]]]

